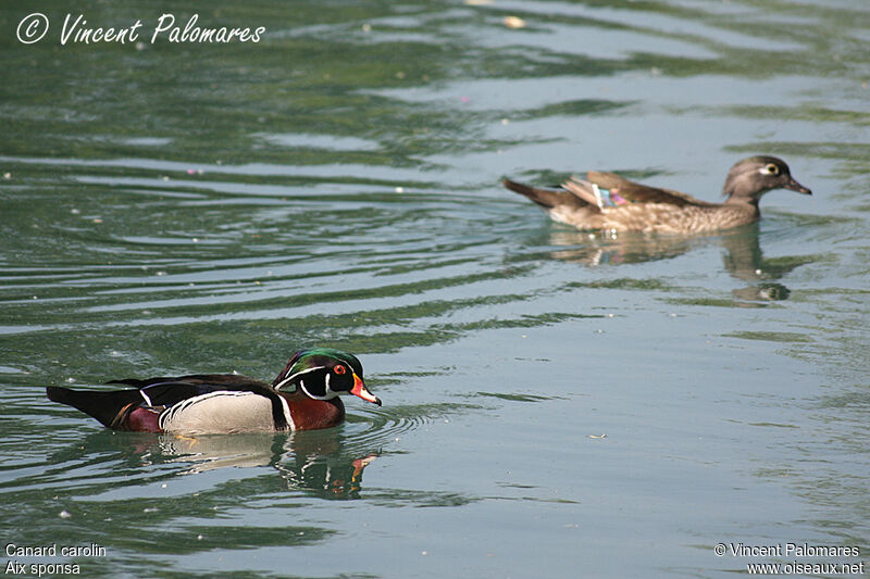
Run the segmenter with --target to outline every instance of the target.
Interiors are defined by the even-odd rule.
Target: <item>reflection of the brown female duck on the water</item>
[[[720,246],[725,270],[748,284],[732,290],[736,300],[745,302],[786,300],[791,291],[778,280],[813,261],[811,256],[765,259],[757,223],[707,236],[554,230],[548,241],[566,248],[551,251],[551,257],[594,266],[668,260],[701,247]]]

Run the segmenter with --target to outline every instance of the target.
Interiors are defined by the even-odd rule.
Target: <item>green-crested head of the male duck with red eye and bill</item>
[[[366,402],[381,405],[381,400],[369,392],[362,380],[362,364],[357,356],[333,350],[315,348],[296,352],[272,382],[275,390],[301,390],[314,400],[332,400],[349,392]]]

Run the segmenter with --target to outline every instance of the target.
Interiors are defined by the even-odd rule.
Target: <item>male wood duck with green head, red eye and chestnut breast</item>
[[[132,389],[72,390],[50,386],[49,400],[69,404],[114,430],[210,435],[330,428],[345,419],[338,394],[381,405],[362,381],[356,356],[318,348],[293,355],[272,385],[234,374],[113,380]]]

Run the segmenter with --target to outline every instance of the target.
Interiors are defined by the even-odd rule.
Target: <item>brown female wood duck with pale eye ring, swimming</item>
[[[731,167],[722,189],[728,197],[724,203],[708,203],[597,171],[585,179],[572,176],[558,190],[509,179],[501,182],[540,205],[554,221],[579,229],[661,234],[706,232],[756,222],[761,216],[758,201],[773,189],[812,194],[775,156],[750,156]]]

